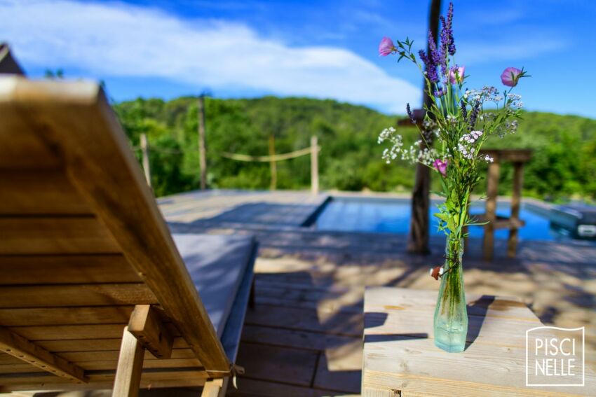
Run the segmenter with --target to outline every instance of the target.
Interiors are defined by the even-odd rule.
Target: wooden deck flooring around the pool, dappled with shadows
[[[209,192],[166,197],[161,209],[175,232],[256,235],[256,307],[248,312],[238,364],[246,373],[231,396],[339,396],[360,393],[365,286],[434,289],[428,268],[442,261],[405,252],[404,235],[301,228],[325,196]],[[251,216],[242,209],[252,209]],[[521,242],[506,258],[482,260],[470,239],[466,291],[513,295],[545,323],[586,329],[586,363],[596,368],[596,246]]]

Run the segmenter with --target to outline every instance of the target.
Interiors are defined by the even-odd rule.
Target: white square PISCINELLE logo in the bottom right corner
[[[527,330],[526,386],[583,386],[584,347],[584,327],[540,326]]]

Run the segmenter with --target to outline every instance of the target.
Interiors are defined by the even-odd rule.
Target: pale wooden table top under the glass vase
[[[472,343],[447,353],[433,342],[436,299],[436,291],[367,288],[363,397],[596,395],[589,368],[585,386],[525,386],[526,330],[541,322],[520,300],[467,297]]]

